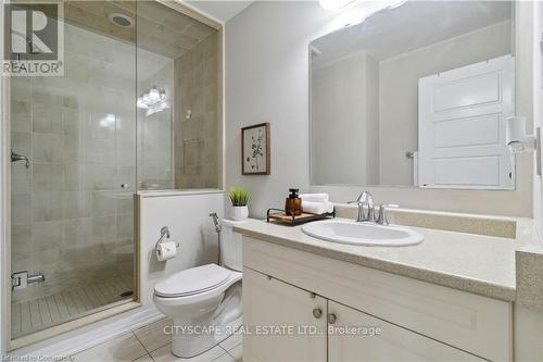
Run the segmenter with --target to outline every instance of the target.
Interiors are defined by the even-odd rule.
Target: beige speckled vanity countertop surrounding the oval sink
[[[241,224],[235,230],[260,240],[485,297],[516,299],[514,238],[408,227],[420,233],[425,241],[409,247],[341,245],[310,237],[301,226],[264,221]]]

